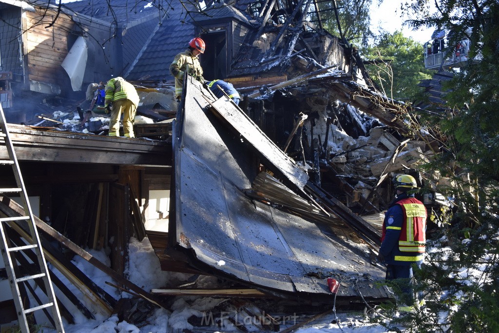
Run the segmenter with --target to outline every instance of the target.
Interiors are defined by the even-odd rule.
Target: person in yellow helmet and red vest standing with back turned
[[[411,193],[417,188],[414,177],[397,175],[393,182],[397,196],[385,213],[378,260],[387,264],[386,280],[405,279],[400,287],[412,301],[412,268],[423,262],[427,212]]]

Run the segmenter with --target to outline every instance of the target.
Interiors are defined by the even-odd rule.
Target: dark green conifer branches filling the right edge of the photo
[[[499,2],[435,3],[429,14],[425,0],[412,1],[419,16],[411,24],[452,29],[448,52],[464,38],[471,50],[445,86],[447,111],[419,112],[420,124],[438,133],[427,171],[451,181],[439,191],[455,205],[445,237],[415,275],[426,308],[403,320],[411,332],[499,332]]]

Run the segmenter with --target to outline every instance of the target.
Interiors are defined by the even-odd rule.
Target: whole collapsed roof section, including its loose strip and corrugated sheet
[[[171,241],[189,250],[190,264],[269,293],[315,301],[333,296],[327,277],[360,275],[338,297],[347,303],[360,301],[360,293],[389,298],[386,290],[369,287],[383,271],[369,263],[368,243],[343,238],[355,229],[315,203],[305,190],[308,175],[229,99],[216,100],[190,78],[186,88],[173,137],[170,231],[176,235]],[[260,163],[282,182],[259,171]],[[364,236],[369,234],[376,243],[379,232]]]

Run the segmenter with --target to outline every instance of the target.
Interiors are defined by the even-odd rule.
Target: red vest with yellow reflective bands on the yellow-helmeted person
[[[425,252],[426,242],[426,207],[415,198],[406,198],[397,202],[402,207],[404,221],[399,237],[401,252]]]

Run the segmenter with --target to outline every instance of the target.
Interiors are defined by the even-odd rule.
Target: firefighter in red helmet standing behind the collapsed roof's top
[[[205,42],[203,39],[196,37],[189,41],[189,47],[175,56],[170,65],[170,73],[175,77],[175,98],[180,99],[182,95],[182,86],[184,80],[184,72],[193,76],[201,83],[205,82],[203,78],[203,68],[199,62],[199,54],[205,52]]]

